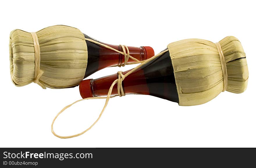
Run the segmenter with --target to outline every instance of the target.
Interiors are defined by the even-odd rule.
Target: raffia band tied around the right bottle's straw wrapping
[[[222,75],[223,75],[223,92],[224,92],[225,90],[227,90],[227,66],[226,66],[226,61],[225,61],[223,51],[221,49],[221,44],[215,43],[215,45],[217,47],[220,60],[221,60],[221,69],[222,69]]]

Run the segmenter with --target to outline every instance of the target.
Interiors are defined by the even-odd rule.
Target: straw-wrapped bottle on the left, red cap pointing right
[[[77,28],[63,25],[33,33],[13,30],[9,49],[15,86],[35,82],[42,88],[77,86],[100,69],[139,63],[154,56],[151,47],[105,44]]]

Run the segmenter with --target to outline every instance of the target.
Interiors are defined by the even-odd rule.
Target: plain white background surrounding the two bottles
[[[253,1],[5,1],[1,4],[0,147],[256,147],[255,4]],[[244,93],[223,92],[198,106],[148,95],[110,100],[102,118],[87,133],[60,139],[51,133],[54,116],[80,99],[79,88],[43,90],[16,87],[10,80],[9,34],[63,24],[109,44],[152,46],[201,38],[213,42],[237,37],[249,68]],[[98,78],[124,68],[106,68]],[[127,104],[128,102],[128,104]],[[56,133],[79,133],[94,122],[104,100],[86,100],[65,111]]]

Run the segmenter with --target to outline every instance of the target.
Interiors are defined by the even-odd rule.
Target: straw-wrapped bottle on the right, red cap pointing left
[[[132,73],[130,73],[132,71]],[[178,102],[182,106],[208,102],[222,91],[242,93],[248,83],[246,56],[240,41],[232,36],[218,43],[186,39],[170,43],[168,50],[135,70],[123,72],[125,94],[146,94]],[[117,75],[80,84],[83,98],[108,94]],[[118,95],[114,86],[112,95]]]

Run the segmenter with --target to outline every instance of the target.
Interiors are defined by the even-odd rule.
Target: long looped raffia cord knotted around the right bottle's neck
[[[118,71],[118,79],[116,79],[116,80],[113,81],[113,83],[111,84],[111,86],[110,86],[110,88],[109,88],[109,92],[108,92],[108,94],[107,94],[106,97],[88,97],[88,98],[85,98],[85,99],[77,100],[77,101],[75,101],[74,103],[65,106],[65,107],[54,117],[54,119],[53,119],[53,121],[52,121],[52,123],[51,123],[51,132],[54,134],[54,136],[56,136],[56,137],[58,137],[58,138],[73,138],[73,137],[80,136],[80,135],[86,133],[88,130],[90,130],[90,129],[99,121],[100,117],[102,116],[104,110],[106,109],[106,107],[107,107],[107,105],[108,105],[108,103],[109,103],[110,98],[116,97],[116,96],[118,96],[118,95],[119,95],[120,97],[125,96],[125,93],[124,93],[124,90],[123,90],[123,87],[122,87],[122,81],[125,79],[125,77],[127,77],[128,75],[130,75],[131,73],[133,73],[134,71],[136,71],[138,68],[140,68],[140,67],[143,66],[144,64],[147,64],[148,62],[150,62],[150,61],[152,61],[153,59],[159,57],[160,55],[162,55],[163,53],[165,53],[165,52],[167,52],[167,51],[168,51],[168,49],[165,50],[165,51],[163,51],[163,52],[161,52],[161,53],[159,53],[159,54],[157,54],[157,55],[155,55],[154,57],[151,57],[150,59],[147,59],[147,60],[141,62],[140,65],[136,66],[136,67],[133,68],[131,71],[127,72],[125,75],[122,74],[122,71]],[[112,90],[113,90],[113,87],[115,86],[115,84],[117,84],[118,95],[113,95],[113,96],[111,96],[111,93],[112,93]],[[97,118],[97,120],[96,120],[89,128],[87,128],[86,130],[84,130],[84,131],[81,132],[81,133],[74,134],[74,135],[71,135],[71,136],[59,136],[58,134],[56,134],[56,133],[54,132],[54,129],[53,129],[53,124],[54,124],[56,118],[57,118],[64,110],[66,110],[67,108],[69,108],[69,107],[72,106],[73,104],[75,104],[75,103],[77,103],[77,102],[80,102],[80,101],[82,101],[82,100],[89,100],[89,99],[106,99],[106,102],[105,102],[105,104],[104,104],[104,107],[103,107],[101,113],[99,114],[99,117]]]

